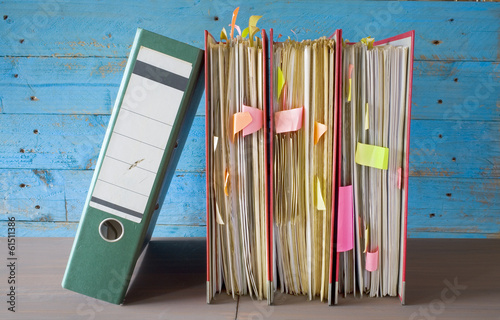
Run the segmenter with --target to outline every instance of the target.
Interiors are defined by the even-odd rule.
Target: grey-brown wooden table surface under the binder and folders
[[[274,306],[226,294],[207,305],[203,238],[153,239],[125,304],[117,306],[61,288],[72,238],[17,241],[16,313],[2,301],[0,319],[500,319],[498,239],[410,239],[406,306],[398,298],[349,297],[333,307],[282,294]],[[6,247],[1,238],[0,248]],[[5,297],[7,268],[1,265]]]

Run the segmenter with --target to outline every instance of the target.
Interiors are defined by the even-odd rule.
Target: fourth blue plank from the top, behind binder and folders
[[[91,176],[90,170],[51,170],[42,173],[0,170],[2,190],[6,190],[5,200],[0,202],[0,220],[13,215],[22,221],[54,222],[57,218],[64,221],[67,212],[68,221],[79,221]],[[21,183],[25,186],[21,187]],[[205,225],[204,183],[203,174],[176,175],[158,223],[170,226]],[[494,179],[411,177],[410,235],[422,236],[436,232],[494,237],[500,232],[498,191],[499,183]],[[37,204],[40,209],[35,209]],[[49,207],[50,211],[44,211],[45,207]],[[60,236],[57,228],[50,232]]]

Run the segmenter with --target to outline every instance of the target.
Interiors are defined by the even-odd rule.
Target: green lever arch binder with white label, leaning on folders
[[[137,30],[64,288],[123,303],[201,99],[202,66],[202,50]]]

